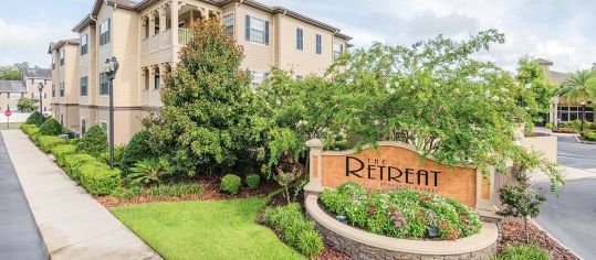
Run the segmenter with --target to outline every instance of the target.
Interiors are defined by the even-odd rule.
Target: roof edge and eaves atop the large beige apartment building
[[[92,18],[96,17],[100,13],[100,9],[102,8],[102,3],[104,1],[106,2],[107,6],[112,6],[112,7],[116,6],[116,7],[119,7],[122,9],[140,12],[140,11],[151,7],[154,3],[159,2],[160,0],[139,0],[139,1],[133,1],[133,0],[95,0],[95,3],[93,4],[93,10],[91,11],[90,15],[87,15],[81,22],[79,22],[79,24],[73,28],[73,31],[77,32],[83,26],[85,26],[87,24],[91,24],[91,21],[93,21]],[[343,33],[339,33],[341,30],[337,29],[337,28],[334,28],[334,26],[332,26],[330,24],[326,24],[324,22],[321,22],[318,20],[309,18],[306,15],[303,15],[301,13],[294,12],[292,10],[289,10],[289,9],[282,8],[282,7],[269,7],[266,4],[260,3],[260,2],[254,1],[254,0],[199,0],[199,1],[210,3],[210,4],[213,4],[213,6],[220,7],[220,8],[223,8],[223,7],[226,7],[226,6],[230,4],[230,3],[239,2],[241,4],[247,4],[249,7],[252,7],[252,8],[255,8],[255,9],[259,9],[261,11],[265,11],[265,12],[269,12],[269,13],[272,13],[272,14],[281,13],[281,14],[284,14],[284,15],[289,15],[289,17],[297,19],[300,21],[303,21],[303,22],[306,22],[306,23],[310,23],[310,24],[313,24],[313,25],[330,30],[337,37],[341,37],[341,39],[344,39],[344,40],[347,40],[347,41],[352,40],[351,36],[346,35],[346,34],[343,34]]]

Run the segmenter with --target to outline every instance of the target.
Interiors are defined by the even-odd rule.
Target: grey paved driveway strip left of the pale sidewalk
[[[48,251],[0,134],[0,259],[48,259]]]

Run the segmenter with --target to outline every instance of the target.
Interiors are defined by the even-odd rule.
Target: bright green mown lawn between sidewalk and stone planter
[[[166,259],[304,259],[257,224],[266,202],[151,203],[112,213]]]

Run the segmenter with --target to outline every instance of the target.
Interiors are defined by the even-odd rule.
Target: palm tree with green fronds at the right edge
[[[596,101],[596,71],[582,69],[572,74],[561,89],[561,102],[582,105],[582,132],[586,121],[586,104]]]

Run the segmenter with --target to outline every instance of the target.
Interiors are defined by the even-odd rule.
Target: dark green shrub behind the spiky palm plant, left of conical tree
[[[122,153],[121,167],[124,175],[130,173],[130,169],[135,163],[143,161],[143,159],[150,159],[158,155],[150,149],[150,137],[147,130],[142,130],[133,136],[130,142],[128,142],[128,145],[126,145]]]

